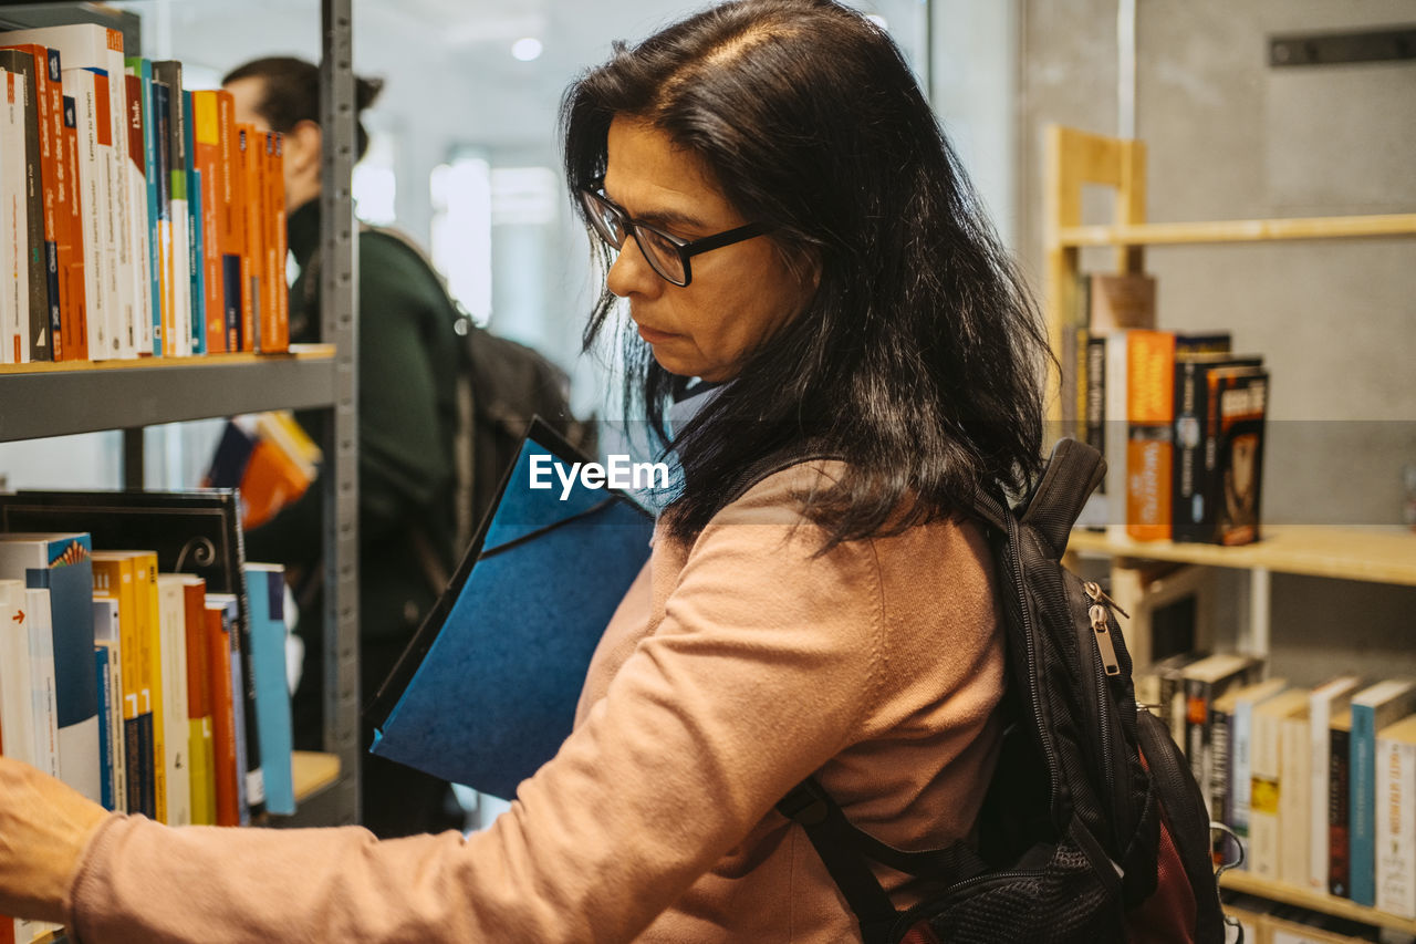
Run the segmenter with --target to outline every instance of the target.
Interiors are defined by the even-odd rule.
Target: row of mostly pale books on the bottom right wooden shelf
[[[1253,656],[1170,656],[1137,675],[1240,867],[1416,918],[1416,680],[1262,679]],[[1235,859],[1232,842],[1216,860]]]

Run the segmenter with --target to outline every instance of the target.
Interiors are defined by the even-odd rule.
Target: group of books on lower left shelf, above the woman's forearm
[[[232,493],[21,492],[0,527],[0,753],[159,822],[295,812],[285,574]]]

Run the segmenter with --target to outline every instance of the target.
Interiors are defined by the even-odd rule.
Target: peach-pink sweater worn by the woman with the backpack
[[[997,755],[1003,649],[971,526],[813,557],[820,533],[792,496],[830,471],[766,479],[691,546],[656,540],[575,733],[490,829],[379,842],[113,815],[69,927],[85,944],[858,940],[773,804],[817,772],[888,843],[967,835]]]

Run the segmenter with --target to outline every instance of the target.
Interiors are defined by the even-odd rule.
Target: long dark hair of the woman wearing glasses
[[[954,515],[977,485],[1028,488],[1042,463],[1045,330],[884,30],[830,0],[736,0],[615,44],[561,105],[572,200],[605,176],[617,115],[701,156],[789,262],[820,268],[801,315],[673,442],[660,434],[684,469],[666,512],[675,536],[697,534],[743,468],[803,439],[847,462],[807,509],[827,549]],[[586,347],[615,303],[606,288]],[[620,337],[626,397],[658,432],[687,380],[630,325]]]

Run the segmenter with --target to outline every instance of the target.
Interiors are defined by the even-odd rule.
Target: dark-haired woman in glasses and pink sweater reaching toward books
[[[1004,680],[966,510],[1037,471],[1044,342],[908,67],[827,0],[742,0],[616,48],[564,116],[619,247],[588,340],[627,299],[656,428],[718,384],[575,731],[470,838],[169,829],[0,765],[0,909],[93,941],[848,941],[787,790],[969,835]]]

